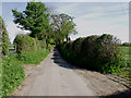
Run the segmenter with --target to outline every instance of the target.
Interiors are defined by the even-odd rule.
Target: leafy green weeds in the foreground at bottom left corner
[[[24,70],[16,56],[9,57],[2,59],[2,96],[9,96],[24,79]]]

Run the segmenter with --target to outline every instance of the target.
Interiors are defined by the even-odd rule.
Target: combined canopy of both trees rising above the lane
[[[25,11],[12,10],[12,12],[17,27],[31,30],[31,37],[45,39],[47,47],[51,39],[60,44],[66,38],[69,40],[71,34],[78,34],[72,16],[64,13],[51,14],[43,2],[27,2]]]

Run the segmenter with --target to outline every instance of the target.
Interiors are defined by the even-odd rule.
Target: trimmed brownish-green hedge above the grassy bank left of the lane
[[[16,46],[17,53],[38,51],[46,47],[46,42],[44,40],[37,40],[23,34],[16,35],[14,45]]]

